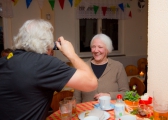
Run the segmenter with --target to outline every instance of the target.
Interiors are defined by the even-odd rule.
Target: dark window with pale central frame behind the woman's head
[[[113,42],[113,51],[118,51],[118,19],[80,19],[80,52],[90,52],[90,41],[97,33],[108,35]]]

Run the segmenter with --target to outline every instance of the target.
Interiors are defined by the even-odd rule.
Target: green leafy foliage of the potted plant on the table
[[[139,94],[136,91],[126,91],[124,95],[124,100],[129,101],[139,101]]]

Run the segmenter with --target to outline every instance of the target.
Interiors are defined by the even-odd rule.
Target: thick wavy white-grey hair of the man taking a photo
[[[51,23],[38,19],[28,20],[14,37],[13,49],[23,49],[36,53],[47,53],[54,47],[54,28]]]

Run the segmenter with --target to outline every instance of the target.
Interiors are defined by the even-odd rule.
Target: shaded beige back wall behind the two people
[[[124,34],[120,36],[123,39],[122,49],[126,57],[113,57],[116,60],[122,61],[124,66],[131,64],[132,62],[130,61],[134,61],[132,64],[136,64],[138,58],[147,56],[147,3],[143,11],[139,12],[137,0],[130,0],[129,2],[132,18],[121,21],[123,24],[121,30]],[[41,11],[36,0],[32,1],[28,9],[26,8],[26,2],[24,0],[19,0],[16,6],[13,6],[14,17],[5,22],[7,26],[7,30],[5,30],[5,39],[7,39],[5,47],[12,45],[11,39],[18,33],[19,28],[26,20],[41,17],[45,18],[46,13],[50,13],[50,22],[55,27],[55,40],[59,36],[64,36],[65,39],[72,42],[76,51],[78,50],[77,43],[79,36],[78,26],[76,24],[78,20],[75,18],[75,8],[70,6],[68,0],[65,0],[63,10],[60,8],[58,0],[55,1],[54,11],[51,10],[48,0],[44,0],[44,6]],[[56,51],[55,54],[58,58],[67,61],[60,51]]]

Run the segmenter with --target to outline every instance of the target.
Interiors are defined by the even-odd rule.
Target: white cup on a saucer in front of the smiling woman
[[[110,108],[110,100],[111,100],[110,96],[99,97],[100,108],[103,110]]]

